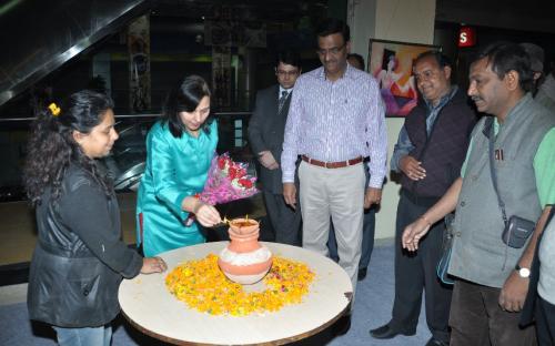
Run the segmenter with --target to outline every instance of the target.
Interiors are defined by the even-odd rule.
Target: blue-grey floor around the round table
[[[394,246],[393,240],[376,241],[369,275],[356,285],[352,326],[346,335],[335,337],[331,329],[306,338],[295,346],[414,346],[424,345],[431,334],[422,308],[415,336],[397,336],[393,339],[377,340],[369,335],[369,329],[383,325],[391,318],[394,296]],[[0,287],[0,345],[54,346],[54,335],[44,325],[29,320],[26,306],[27,284]],[[424,304],[424,302],[423,302]],[[183,322],[186,323],[186,322]],[[114,322],[112,345],[162,345],[119,317]],[[164,344],[165,345],[165,344]]]

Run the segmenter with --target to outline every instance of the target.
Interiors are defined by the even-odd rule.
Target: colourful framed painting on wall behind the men
[[[386,116],[406,116],[416,105],[413,61],[428,50],[441,51],[441,47],[370,39],[369,73],[380,84]]]

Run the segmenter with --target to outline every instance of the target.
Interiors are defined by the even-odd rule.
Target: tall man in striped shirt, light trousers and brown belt
[[[339,264],[356,288],[363,210],[380,203],[386,172],[384,106],[377,82],[347,64],[349,27],[327,19],[317,29],[321,68],[295,84],[283,143],[283,196],[296,205],[299,166],[303,247],[327,255],[330,216],[335,227]],[[370,156],[365,184],[364,157]],[[349,329],[349,317],[345,333]]]

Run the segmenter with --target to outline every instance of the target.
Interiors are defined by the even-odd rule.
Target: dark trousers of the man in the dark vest
[[[404,228],[428,207],[414,203],[404,192],[401,194],[395,237],[395,301],[390,327],[405,333],[416,330],[424,292],[430,332],[436,339],[448,342],[452,287],[442,284],[436,273],[445,225],[443,222],[434,224],[414,253],[404,251],[401,245]]]

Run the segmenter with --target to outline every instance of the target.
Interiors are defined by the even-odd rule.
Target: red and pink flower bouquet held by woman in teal
[[[246,163],[234,162],[229,153],[214,155],[210,164],[204,190],[195,195],[200,201],[210,204],[221,204],[250,197],[258,193],[256,177],[246,174]],[[190,226],[194,214],[185,222]]]

